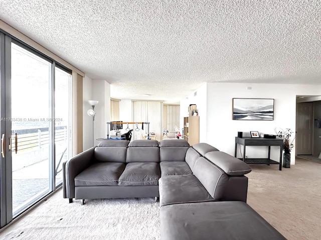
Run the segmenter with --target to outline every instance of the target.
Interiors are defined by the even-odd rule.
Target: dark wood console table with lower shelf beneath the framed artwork
[[[236,157],[237,144],[243,145],[243,158],[239,158],[247,164],[279,164],[279,170],[282,170],[282,139],[278,138],[254,138],[254,137],[235,137],[235,152]],[[267,158],[245,158],[246,146],[268,146]],[[280,146],[280,162],[270,159],[271,146]]]

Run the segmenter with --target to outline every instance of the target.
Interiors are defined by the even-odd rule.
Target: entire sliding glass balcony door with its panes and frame
[[[71,71],[0,32],[1,227],[62,185]]]

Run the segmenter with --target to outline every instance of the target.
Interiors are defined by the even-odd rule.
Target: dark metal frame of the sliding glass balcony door
[[[10,118],[12,116],[11,110],[11,47],[12,43],[15,43],[33,54],[49,61],[51,63],[49,74],[49,117],[54,119],[55,116],[55,67],[59,67],[68,73],[72,73],[70,69],[54,61],[52,58],[46,56],[42,52],[34,49],[33,47],[25,44],[16,37],[8,34],[0,29],[0,104],[1,104],[1,123],[0,123],[0,142],[1,150],[4,150],[4,157],[0,153],[0,228],[7,225],[14,218],[21,215],[25,210],[32,207],[43,198],[35,201],[32,205],[25,208],[24,211],[19,212],[17,215],[13,215],[13,194],[12,194],[12,151],[11,151],[11,135],[12,135],[12,123]],[[69,83],[69,86],[71,83]],[[71,91],[71,89],[70,89]],[[71,96],[69,96],[69,99]],[[71,102],[69,101],[70,105]],[[6,107],[7,106],[7,107]],[[70,114],[70,112],[69,112]],[[8,119],[8,120],[6,120]],[[71,119],[69,119],[70,121]],[[70,125],[69,125],[70,126]],[[69,129],[70,131],[71,129]],[[5,136],[4,149],[2,147],[1,137]],[[68,137],[69,138],[69,137]],[[56,156],[55,156],[55,124],[51,120],[49,124],[49,192],[52,193],[57,188],[61,187],[62,183],[56,186]],[[68,154],[70,155],[71,146],[68,144]],[[46,194],[46,195],[48,195]],[[45,197],[45,196],[44,196]]]

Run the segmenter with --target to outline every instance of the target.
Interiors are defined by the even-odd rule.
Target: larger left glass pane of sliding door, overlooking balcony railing
[[[49,193],[52,63],[11,44],[13,215]]]

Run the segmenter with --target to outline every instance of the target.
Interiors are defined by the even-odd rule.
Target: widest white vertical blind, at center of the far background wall
[[[163,102],[162,101],[132,101],[132,121],[134,122],[149,122],[149,131],[156,132],[156,140],[162,138],[162,122],[163,122]],[[147,133],[147,126],[141,129],[141,124],[138,125],[139,131],[133,127],[133,139],[144,139],[144,134]]]

